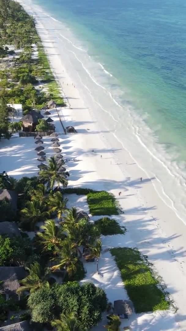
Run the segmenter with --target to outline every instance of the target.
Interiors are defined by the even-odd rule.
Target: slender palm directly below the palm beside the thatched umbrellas
[[[59,191],[49,197],[49,209],[51,212],[57,213],[57,217],[60,221],[62,221],[62,214],[64,213],[66,202],[67,199],[63,201],[63,196]]]

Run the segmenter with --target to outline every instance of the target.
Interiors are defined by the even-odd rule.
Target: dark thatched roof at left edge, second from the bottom
[[[20,287],[19,280],[26,275],[23,267],[0,267],[0,281],[3,281],[0,292],[16,292]]]

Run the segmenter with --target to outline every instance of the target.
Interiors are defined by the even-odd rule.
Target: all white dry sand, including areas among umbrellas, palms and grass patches
[[[30,0],[19,0],[25,10],[36,19],[36,27],[42,39],[51,67],[61,86],[61,93],[67,107],[58,109],[64,126],[73,125],[77,134],[59,135],[62,143],[67,170],[70,173],[69,186],[88,187],[112,192],[118,199],[124,214],[117,216],[125,225],[125,235],[103,237],[103,249],[109,247],[137,247],[148,256],[155,269],[167,285],[178,311],[161,311],[132,316],[130,327],[142,330],[186,330],[186,226],[157,194],[157,178],[149,178],[137,164],[128,146],[123,146],[114,138],[113,131],[107,129],[108,114],[93,102],[91,91],[86,88],[86,78],[82,82],[81,71],[86,67],[74,66],[70,61],[68,45],[60,36],[63,26],[47,15]],[[74,53],[74,58],[76,54]],[[76,59],[77,60],[77,59]],[[78,60],[77,60],[78,62]],[[86,77],[86,76],[85,76]],[[93,83],[94,85],[94,83]],[[56,132],[63,132],[58,115],[52,110]],[[129,132],[130,139],[130,132]],[[44,138],[47,156],[52,155],[50,140]],[[23,175],[33,176],[38,172],[34,139],[15,136],[1,140],[0,171],[6,170],[15,178]],[[93,152],[92,152],[93,150]],[[102,157],[101,157],[102,156]],[[142,158],[142,155],[141,155]],[[142,181],[140,180],[142,177]],[[156,182],[156,185],[154,184]],[[119,192],[122,192],[119,196]],[[85,211],[88,205],[83,197],[72,196],[69,203]],[[99,218],[97,216],[97,218]],[[115,217],[116,218],[116,217]],[[94,218],[92,218],[94,219]],[[110,253],[102,254],[100,272],[96,274],[95,265],[87,265],[86,280],[102,286],[109,301],[126,299],[122,280],[115,261]],[[105,324],[103,320],[102,325]],[[95,328],[96,329],[96,328]],[[97,330],[104,330],[101,325]]]

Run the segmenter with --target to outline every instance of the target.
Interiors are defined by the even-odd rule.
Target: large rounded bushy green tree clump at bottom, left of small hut
[[[101,320],[107,299],[104,290],[92,283],[68,282],[52,288],[42,287],[30,295],[28,306],[35,322],[56,322],[61,313],[74,314],[77,327],[88,331]]]

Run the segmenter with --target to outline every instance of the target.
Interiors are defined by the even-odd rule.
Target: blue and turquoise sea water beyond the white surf
[[[186,161],[186,2],[34,2],[87,44],[89,55],[125,89],[120,102],[147,114],[158,141]]]

